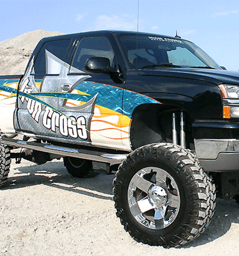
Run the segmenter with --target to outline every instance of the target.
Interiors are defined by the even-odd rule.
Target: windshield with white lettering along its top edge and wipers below
[[[178,38],[146,34],[119,36],[130,68],[214,68],[221,69],[195,44]]]

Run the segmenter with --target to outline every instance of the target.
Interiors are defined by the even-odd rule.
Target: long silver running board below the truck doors
[[[60,147],[54,145],[41,144],[37,142],[17,141],[6,137],[1,137],[0,143],[5,144],[7,146],[13,146],[16,148],[25,148],[35,151],[56,154],[61,157],[68,156],[110,164],[120,164],[127,157],[127,154],[109,154],[106,152]]]

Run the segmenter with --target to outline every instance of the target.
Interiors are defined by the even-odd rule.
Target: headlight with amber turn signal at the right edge
[[[223,99],[223,118],[239,118],[239,86],[218,85]]]

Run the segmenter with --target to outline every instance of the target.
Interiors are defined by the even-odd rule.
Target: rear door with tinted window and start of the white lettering
[[[71,39],[47,41],[31,58],[21,79],[17,98],[15,124],[20,131],[57,137],[45,127],[48,122],[44,116],[47,109],[58,108],[57,97],[65,84],[61,74],[69,67],[66,59],[70,42]]]

